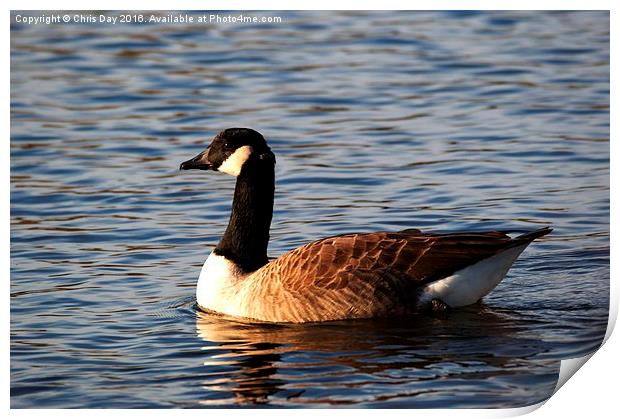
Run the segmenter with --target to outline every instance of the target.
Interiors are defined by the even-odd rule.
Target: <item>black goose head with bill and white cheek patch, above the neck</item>
[[[181,163],[180,170],[215,170],[239,176],[252,162],[275,164],[265,138],[250,128],[228,128],[217,134],[196,157]]]

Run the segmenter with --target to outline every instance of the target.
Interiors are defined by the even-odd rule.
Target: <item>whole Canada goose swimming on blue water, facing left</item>
[[[523,250],[551,232],[401,232],[328,237],[267,259],[275,156],[263,136],[229,128],[180,170],[237,177],[230,221],[200,272],[202,309],[266,322],[409,315],[476,303]]]

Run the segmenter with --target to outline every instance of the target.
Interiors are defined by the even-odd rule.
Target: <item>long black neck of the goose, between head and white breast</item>
[[[237,176],[230,221],[215,253],[245,272],[255,271],[268,261],[274,184],[271,161],[250,159]]]

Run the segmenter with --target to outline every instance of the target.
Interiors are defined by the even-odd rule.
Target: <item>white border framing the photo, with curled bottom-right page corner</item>
[[[577,0],[521,0],[521,1],[497,1],[497,0],[478,0],[478,1],[457,1],[457,0],[438,0],[438,1],[395,1],[395,0],[382,0],[380,2],[373,3],[360,3],[350,1],[324,1],[317,0],[313,2],[307,1],[299,1],[299,0],[290,0],[287,2],[284,1],[275,1],[275,0],[263,0],[260,3],[250,2],[250,1],[239,1],[239,0],[230,0],[230,1],[210,1],[210,2],[199,2],[199,1],[188,1],[188,0],[175,0],[174,2],[170,1],[160,1],[160,0],[152,0],[152,1],[119,1],[119,0],[110,0],[106,2],[97,1],[97,2],[89,2],[88,9],[97,9],[97,10],[189,10],[189,9],[223,9],[223,10],[441,10],[441,9],[491,9],[491,10],[611,10],[611,46],[612,46],[612,58],[611,58],[611,68],[617,68],[617,65],[614,65],[614,62],[617,61],[615,59],[617,54],[617,48],[615,48],[614,36],[615,30],[614,27],[617,24],[617,6],[615,6],[617,1],[612,0],[590,0],[590,1],[577,1]],[[9,10],[50,10],[50,9],[58,9],[58,10],[80,10],[85,9],[86,6],[83,2],[77,1],[56,1],[54,3],[44,2],[44,1],[34,1],[34,0],[22,0],[22,1],[9,1],[7,4],[8,8],[5,14],[5,19],[10,21],[10,13]],[[8,22],[7,22],[8,23]],[[8,25],[5,26],[5,30],[3,32],[3,36],[5,37],[4,42],[2,43],[4,47],[4,56],[7,57],[10,51],[10,37]],[[10,217],[9,217],[9,127],[10,127],[10,107],[9,107],[9,86],[10,86],[10,78],[8,74],[9,65],[6,63],[3,66],[5,73],[4,79],[6,80],[3,88],[5,91],[5,102],[3,103],[4,109],[4,137],[7,138],[6,145],[2,149],[1,162],[1,170],[4,172],[5,181],[1,184],[2,194],[5,197],[6,204],[2,205],[2,213],[4,223],[2,224],[3,228],[3,246],[4,252],[2,252],[2,262],[5,267],[5,272],[7,273],[7,278],[10,278]],[[613,79],[613,72],[612,72]],[[614,106],[617,102],[615,100],[616,95],[614,94],[617,89],[614,88],[614,84],[611,84],[611,115],[614,114],[613,110],[617,109]],[[611,117],[611,121],[613,121],[613,117]],[[613,123],[610,127],[610,138],[613,138]],[[611,159],[614,160],[614,156],[616,154],[615,149],[617,147],[614,146],[614,142],[611,141]],[[612,165],[612,174],[614,173],[613,165]],[[614,198],[614,188],[613,188],[613,175],[611,177],[611,208],[613,213],[613,208],[615,208],[616,199]],[[615,249],[614,238],[617,237],[618,233],[617,228],[615,228],[615,223],[612,217],[611,224],[611,237],[612,243],[611,248]],[[614,252],[612,251],[612,260],[614,260]],[[376,417],[377,415],[389,415],[389,416],[401,416],[409,418],[410,415],[414,414],[418,417],[430,417],[433,419],[436,418],[453,418],[453,417],[471,417],[471,418],[481,418],[481,417],[509,417],[516,416],[520,414],[527,413],[529,411],[535,410],[528,417],[532,418],[557,418],[567,415],[568,417],[573,416],[594,416],[599,415],[602,417],[608,417],[609,412],[617,411],[617,384],[615,384],[616,380],[618,380],[617,372],[617,360],[615,359],[614,352],[617,353],[619,341],[616,336],[611,335],[611,331],[613,328],[613,324],[615,324],[615,320],[617,318],[618,312],[618,292],[615,278],[617,269],[612,263],[611,266],[611,308],[610,308],[610,327],[608,328],[608,332],[606,335],[606,339],[609,338],[609,341],[603,346],[598,353],[596,353],[592,359],[590,359],[586,365],[577,372],[577,377],[569,380],[566,385],[564,385],[556,395],[554,395],[544,406],[540,409],[536,409],[539,406],[526,407],[521,409],[497,409],[497,410],[482,410],[482,409],[470,409],[470,410],[448,410],[448,409],[438,409],[438,410],[415,410],[414,412],[410,410],[385,410],[379,411],[376,409],[371,410],[340,410],[335,412],[330,412],[330,414],[338,413],[339,416],[349,416],[355,415],[356,417]],[[6,282],[6,300],[7,305],[10,304],[9,294],[9,281]],[[5,308],[7,313],[7,320],[2,325],[2,331],[4,332],[4,336],[9,336],[9,318],[10,318],[10,307]],[[611,335],[611,337],[610,337]],[[616,334],[617,335],[617,334]],[[9,345],[5,346],[7,352],[9,352]],[[8,383],[7,388],[3,392],[4,394],[4,406],[7,408],[10,406],[10,395],[9,388],[10,387],[10,354],[7,353],[4,357],[3,367],[5,371],[5,377],[7,377]],[[48,409],[40,409],[40,410],[12,410],[10,412],[11,415],[17,417],[31,417],[36,415],[37,417],[48,417],[52,415],[56,415],[56,413],[62,414],[66,418],[74,417],[83,417],[86,412],[82,410],[48,410]],[[252,416],[256,417],[256,415],[263,416],[269,415],[270,417],[277,416],[314,416],[318,412],[315,410],[216,410],[216,411],[208,411],[208,412],[196,412],[196,411],[181,411],[181,410],[91,410],[88,411],[88,415],[93,417],[93,419],[101,417],[108,417],[110,414],[116,417],[135,417],[136,415],[148,415],[149,417],[162,417],[169,418],[185,416],[189,415],[208,415],[209,417],[219,417],[226,415],[227,417],[245,417]],[[198,416],[197,416],[198,417]]]

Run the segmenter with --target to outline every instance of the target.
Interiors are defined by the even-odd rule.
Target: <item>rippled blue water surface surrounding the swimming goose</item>
[[[601,343],[608,12],[16,14],[12,407],[516,407]],[[177,168],[231,126],[277,155],[272,256],[356,231],[555,230],[462,310],[297,326],[206,315],[194,287],[234,180]]]

